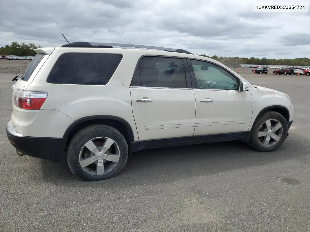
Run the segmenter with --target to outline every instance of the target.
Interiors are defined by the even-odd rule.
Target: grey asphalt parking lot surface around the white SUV
[[[11,79],[28,63],[0,60],[0,231],[310,231],[309,77],[239,69],[294,103],[275,152],[238,141],[144,150],[115,178],[83,182],[7,140]]]

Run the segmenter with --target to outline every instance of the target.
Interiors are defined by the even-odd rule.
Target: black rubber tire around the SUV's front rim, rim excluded
[[[276,144],[270,147],[264,147],[262,144],[259,143],[258,132],[259,132],[260,126],[268,119],[276,119],[277,121],[279,121],[282,124],[283,131],[282,131],[281,139]],[[288,125],[287,125],[286,119],[281,114],[275,111],[268,110],[255,123],[252,137],[247,143],[250,145],[251,148],[253,148],[256,151],[271,152],[271,151],[276,150],[283,144],[287,136],[287,131],[288,131]]]

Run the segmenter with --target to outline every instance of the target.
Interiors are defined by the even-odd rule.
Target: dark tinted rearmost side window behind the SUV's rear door
[[[47,77],[47,82],[105,85],[113,76],[122,58],[122,54],[65,53],[56,61]]]

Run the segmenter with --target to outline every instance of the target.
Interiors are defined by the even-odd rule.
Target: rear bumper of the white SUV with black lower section
[[[7,138],[16,150],[32,157],[62,162],[66,139],[23,136],[14,130],[11,120],[7,123]]]

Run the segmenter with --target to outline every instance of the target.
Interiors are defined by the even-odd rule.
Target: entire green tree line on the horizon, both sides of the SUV
[[[34,43],[18,43],[17,41],[11,42],[11,45],[6,45],[0,48],[0,54],[15,55],[15,56],[35,56],[36,52],[33,49],[41,48],[41,46]],[[223,56],[207,56],[201,54],[200,56],[209,57],[215,59],[224,64],[232,64],[237,66],[238,64],[261,64],[261,65],[302,65],[310,66],[309,58],[295,58],[295,59],[267,59],[267,58],[245,58],[245,57],[223,57]]]

